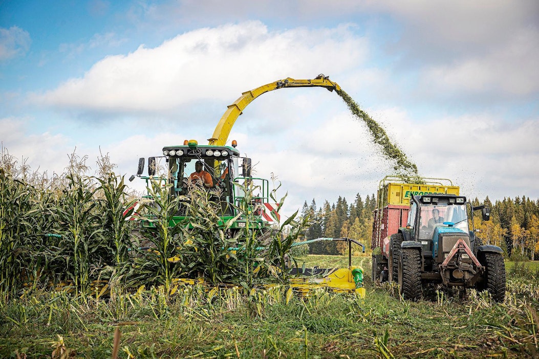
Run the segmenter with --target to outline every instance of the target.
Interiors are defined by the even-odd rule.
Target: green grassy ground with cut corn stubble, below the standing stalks
[[[347,265],[346,257],[307,256],[307,266]],[[26,293],[0,300],[0,357],[104,358],[121,331],[119,357],[371,358],[537,357],[539,263],[508,262],[503,304],[472,291],[460,300],[436,292],[403,301],[395,288],[370,280],[367,297],[316,291],[309,298],[277,286],[206,292],[183,287],[112,294],[110,299]]]

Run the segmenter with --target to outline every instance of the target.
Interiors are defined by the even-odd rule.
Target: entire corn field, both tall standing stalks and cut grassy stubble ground
[[[5,150],[0,161],[0,357],[537,357],[539,270],[526,262],[508,270],[503,303],[474,290],[466,300],[437,291],[404,301],[368,274],[363,299],[304,296],[283,263],[308,218],[291,216],[260,252],[255,229],[230,237],[230,223],[217,226],[211,193],[171,197],[154,183],[145,232],[125,221],[140,195],[107,156],[89,175],[73,153],[51,178]],[[245,192],[238,210],[248,217]],[[190,223],[171,226],[179,202]],[[330,268],[338,258],[308,257],[298,260]],[[354,261],[369,272],[369,258]]]

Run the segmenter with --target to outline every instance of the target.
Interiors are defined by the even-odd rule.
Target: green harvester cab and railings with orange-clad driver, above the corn
[[[238,215],[237,208],[245,200],[246,188],[256,188],[255,195],[249,199],[254,213],[251,221],[254,222],[248,227],[268,228],[272,217],[262,210],[264,203],[269,202],[268,180],[252,177],[251,159],[240,157],[236,146],[235,140],[232,146],[199,145],[196,140],[185,140],[183,145],[165,146],[163,156],[148,159],[147,176],[142,175],[144,158],[139,160],[137,176],[146,180],[147,187],[151,186],[152,181],[162,186],[168,185],[172,196],[187,196],[187,201],[190,191],[198,184],[198,188],[210,191],[212,201],[219,203],[222,223]],[[149,193],[144,197],[151,200]],[[178,223],[185,217],[186,207],[179,205],[173,221]],[[231,227],[232,233],[246,227],[246,221],[243,217],[236,219]],[[148,221],[142,221],[141,225],[151,227]]]

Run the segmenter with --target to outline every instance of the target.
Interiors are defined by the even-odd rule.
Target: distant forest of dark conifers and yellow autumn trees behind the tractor
[[[504,198],[484,201],[472,200],[473,206],[485,205],[490,210],[490,221],[482,221],[474,216],[474,227],[479,229],[485,244],[499,246],[506,257],[514,259],[536,259],[539,254],[539,199],[530,200],[527,196],[515,199]],[[375,194],[367,195],[363,200],[357,193],[353,202],[339,196],[336,203],[325,200],[317,207],[313,199],[308,205],[303,203],[302,215],[309,215],[314,223],[306,231],[305,238],[313,240],[320,237],[349,237],[370,248],[372,237],[372,211],[376,208]],[[309,246],[309,254],[336,255],[345,254],[344,243],[316,242]]]

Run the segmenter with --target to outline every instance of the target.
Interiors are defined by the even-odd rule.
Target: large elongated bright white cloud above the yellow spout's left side
[[[260,22],[245,22],[190,31],[156,48],[140,46],[125,56],[109,56],[83,78],[33,100],[60,108],[166,112],[196,100],[228,100],[231,93],[283,74],[342,73],[361,64],[367,53],[367,41],[348,26],[269,31]]]

